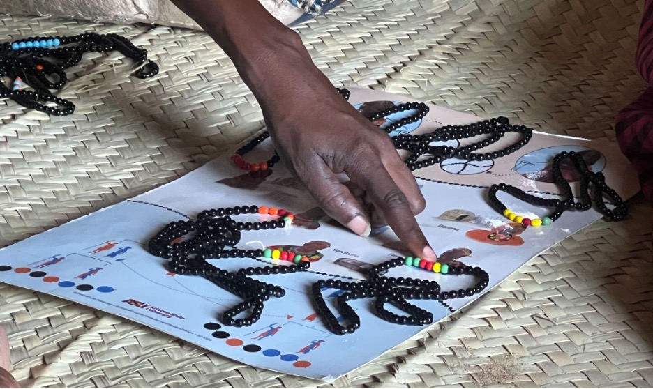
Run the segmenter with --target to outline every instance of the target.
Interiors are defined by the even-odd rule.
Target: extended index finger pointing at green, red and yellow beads
[[[408,199],[383,165],[366,163],[363,167],[347,169],[346,173],[352,181],[368,192],[389,226],[414,255],[430,261],[437,259],[417,224]]]

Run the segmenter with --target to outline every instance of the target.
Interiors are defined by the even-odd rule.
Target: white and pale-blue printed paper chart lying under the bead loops
[[[410,100],[353,90],[350,101],[361,108],[363,102],[398,104]],[[377,125],[389,125],[403,114],[410,112],[394,114]],[[428,132],[444,124],[475,121],[479,121],[476,116],[431,106],[423,120],[397,131]],[[594,211],[568,212],[548,227],[511,230],[509,234],[509,220],[487,204],[487,188],[492,183],[511,183],[545,196],[557,193],[548,177],[550,160],[565,150],[581,153],[592,171],[603,171],[608,184],[622,197],[631,197],[638,190],[633,176],[626,174],[626,160],[613,145],[540,133],[525,148],[505,158],[473,163],[446,160],[420,169],[416,176],[427,208],[418,221],[438,260],[480,266],[490,274],[487,291],[532,257],[598,220],[600,215]],[[246,158],[266,160],[271,153],[268,140]],[[507,196],[500,199],[522,214],[548,212]],[[234,328],[225,326],[220,318],[241,301],[237,296],[201,277],[170,273],[165,259],[147,252],[147,242],[165,224],[194,218],[205,209],[253,204],[285,208],[301,215],[303,222],[290,229],[243,231],[239,247],[284,247],[310,253],[312,264],[306,273],[262,276],[266,282],[283,287],[285,296],[271,298],[262,319],[252,327]],[[253,221],[264,217],[234,218]],[[502,234],[503,239],[492,238]],[[373,312],[371,300],[356,300],[352,307],[361,317],[361,328],[352,335],[333,335],[315,312],[311,284],[329,277],[364,280],[366,269],[404,250],[388,228],[375,229],[370,238],[361,238],[339,227],[317,208],[282,164],[250,174],[225,157],[149,193],[0,250],[0,281],[144,323],[249,365],[332,381],[424,328],[388,323]],[[220,259],[213,264],[225,270],[262,265],[255,259]],[[435,275],[419,268],[391,271],[396,276],[437,280],[443,290],[469,287],[474,282],[471,276]],[[322,293],[327,301],[333,301],[343,291],[324,288]],[[440,321],[474,298],[416,304]],[[346,358],[343,350],[347,350]]]

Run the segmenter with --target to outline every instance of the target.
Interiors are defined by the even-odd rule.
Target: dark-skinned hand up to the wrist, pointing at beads
[[[280,46],[251,65],[264,70],[248,84],[282,160],[340,224],[368,236],[386,223],[414,255],[435,261],[415,219],[426,201],[388,135],[336,92],[301,41]]]

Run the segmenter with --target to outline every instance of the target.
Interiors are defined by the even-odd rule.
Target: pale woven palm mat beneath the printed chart
[[[633,66],[640,3],[352,0],[298,30],[337,86],[613,139],[615,113],[643,87]],[[73,116],[0,103],[1,245],[172,181],[262,128],[252,94],[202,33],[0,17],[6,39],[81,31],[127,36],[162,72],[130,78],[119,54],[88,54],[60,93]],[[650,220],[635,201],[625,222],[573,235],[333,386],[653,386]],[[23,386],[323,385],[6,285],[0,323]]]

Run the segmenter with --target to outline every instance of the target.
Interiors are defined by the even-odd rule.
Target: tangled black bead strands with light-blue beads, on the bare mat
[[[54,96],[52,90],[66,84],[66,69],[77,65],[84,53],[114,50],[139,64],[144,63],[134,73],[135,77],[144,79],[158,74],[158,65],[147,59],[147,50],[135,47],[130,40],[115,33],[25,38],[0,44],[0,77],[20,79],[33,91],[23,91],[22,84],[14,88],[0,82],[0,98],[10,98],[23,107],[54,116],[73,114],[73,102]],[[46,105],[47,102],[54,102],[57,107]]]

